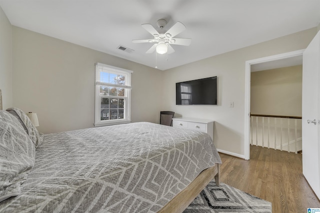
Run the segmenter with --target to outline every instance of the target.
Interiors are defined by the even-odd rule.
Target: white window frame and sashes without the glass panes
[[[125,79],[125,85],[111,84],[100,82],[100,70],[106,70],[109,73],[123,75]],[[110,66],[102,63],[95,64],[95,106],[94,106],[94,126],[106,126],[114,124],[125,124],[131,122],[131,73],[132,70],[122,69],[115,66]],[[100,85],[103,86],[113,86],[124,88],[124,117],[123,119],[114,119],[114,120],[102,120],[101,121],[101,95],[100,95]],[[107,98],[112,98],[112,96],[104,96]],[[118,97],[118,96],[117,96]],[[122,96],[118,97],[122,98]]]

